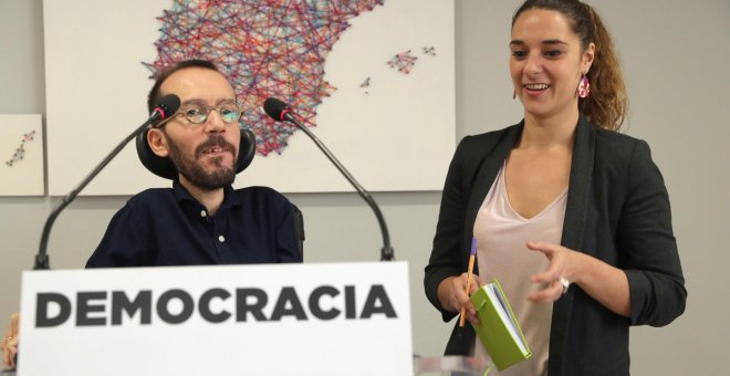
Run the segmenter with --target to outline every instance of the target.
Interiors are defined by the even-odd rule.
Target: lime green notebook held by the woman
[[[532,355],[497,279],[477,290],[470,299],[480,321],[472,326],[497,369],[503,370]]]

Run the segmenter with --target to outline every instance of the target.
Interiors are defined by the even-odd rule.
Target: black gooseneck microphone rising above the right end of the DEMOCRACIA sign
[[[367,205],[373,209],[373,212],[375,213],[375,218],[377,218],[377,222],[380,226],[380,232],[383,234],[383,248],[380,249],[380,261],[393,261],[395,259],[395,254],[393,251],[393,247],[390,247],[390,236],[388,236],[388,227],[385,224],[385,218],[383,218],[383,213],[380,212],[380,208],[377,206],[373,197],[371,197],[371,194],[363,188],[363,186],[355,180],[355,178],[347,171],[347,169],[335,158],[335,156],[327,149],[324,144],[312,133],[310,129],[307,129],[305,126],[302,126],[296,118],[294,118],[294,114],[292,109],[289,107],[289,105],[280,100],[270,97],[267,98],[263,102],[263,111],[267,113],[267,115],[271,116],[277,122],[288,122],[291,124],[294,124],[298,128],[300,128],[302,132],[304,132],[313,142],[316,144],[316,146],[324,153],[327,158],[330,158],[330,161],[332,161],[335,167],[342,173],[342,175],[350,181],[350,184],[355,187],[355,190],[357,190],[357,194],[359,197],[367,202]]]

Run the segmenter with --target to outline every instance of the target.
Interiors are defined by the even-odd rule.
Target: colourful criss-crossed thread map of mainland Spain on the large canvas
[[[159,17],[159,73],[180,59],[212,60],[233,82],[244,111],[243,123],[258,135],[258,152],[282,153],[294,127],[273,123],[255,109],[262,98],[286,101],[314,121],[323,97],[336,87],[325,80],[326,56],[348,21],[383,1],[186,1],[177,0]]]

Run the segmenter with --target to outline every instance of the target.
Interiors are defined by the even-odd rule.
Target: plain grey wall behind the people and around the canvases
[[[715,375],[730,334],[730,2],[591,1],[613,31],[629,88],[627,133],[647,139],[664,173],[689,290],[687,312],[665,328],[632,331],[636,375]],[[508,76],[510,17],[518,1],[456,1],[457,135],[519,121]],[[0,1],[0,113],[45,113],[41,0]],[[90,129],[90,134],[93,129]],[[0,156],[1,157],[1,156]],[[331,168],[323,159],[323,168]],[[446,171],[444,171],[446,175]],[[0,181],[0,184],[2,184]],[[423,268],[440,192],[379,192],[399,260],[410,263],[414,351],[440,354],[450,324],[423,294]],[[354,194],[290,195],[306,223],[306,262],[376,260],[372,212]],[[81,268],[126,197],[82,197],[56,220],[54,269]],[[19,306],[45,217],[59,198],[0,198],[0,325]]]

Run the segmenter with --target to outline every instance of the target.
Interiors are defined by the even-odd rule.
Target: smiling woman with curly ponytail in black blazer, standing
[[[616,132],[625,86],[590,6],[525,1],[509,46],[524,119],[457,147],[426,295],[444,321],[462,306],[477,320],[465,292],[473,237],[478,284],[500,280],[532,349],[500,375],[628,375],[628,327],[685,311],[664,180],[648,145]],[[455,326],[446,354],[488,358],[470,325]]]

